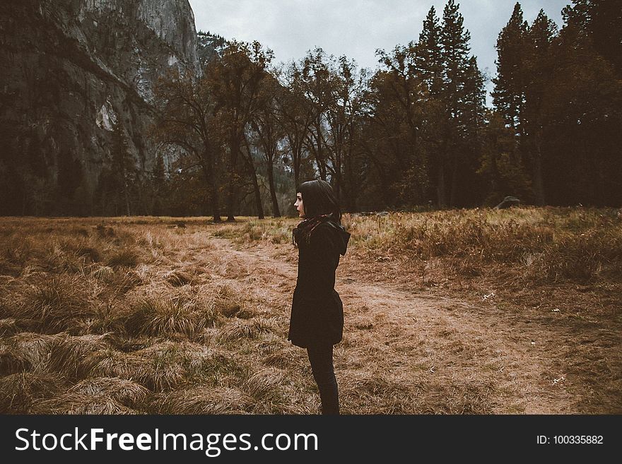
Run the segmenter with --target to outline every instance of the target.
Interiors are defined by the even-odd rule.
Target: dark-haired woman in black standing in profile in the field
[[[298,279],[293,294],[288,340],[307,349],[319,389],[322,414],[339,414],[339,392],[333,368],[333,345],[344,332],[344,306],[335,287],[339,255],[346,254],[350,234],[330,184],[303,182],[294,206],[303,218],[293,230],[298,246]]]

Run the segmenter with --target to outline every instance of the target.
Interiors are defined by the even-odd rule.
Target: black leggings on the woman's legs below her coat
[[[333,368],[333,345],[307,347],[311,371],[322,401],[322,414],[339,414],[339,391]]]

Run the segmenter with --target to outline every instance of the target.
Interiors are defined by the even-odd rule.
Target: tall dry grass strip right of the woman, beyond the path
[[[622,275],[622,224],[614,209],[512,208],[346,215],[353,244],[368,258],[421,265],[438,260],[447,275],[481,275],[512,266],[531,281]]]

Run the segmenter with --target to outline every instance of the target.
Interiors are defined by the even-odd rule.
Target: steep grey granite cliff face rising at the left
[[[187,0],[2,0],[0,214],[97,213],[115,135],[146,177],[153,85],[196,42]]]

